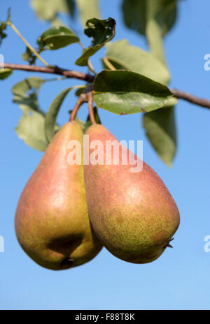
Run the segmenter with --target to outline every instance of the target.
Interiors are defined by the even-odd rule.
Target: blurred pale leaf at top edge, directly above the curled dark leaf
[[[80,20],[85,26],[85,22],[90,18],[99,18],[99,0],[76,0],[80,11]]]

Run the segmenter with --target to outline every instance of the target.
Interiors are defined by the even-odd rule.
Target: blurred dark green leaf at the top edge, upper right
[[[172,29],[176,22],[177,0],[124,0],[123,15],[126,26],[146,35],[146,24],[155,19],[162,36]]]

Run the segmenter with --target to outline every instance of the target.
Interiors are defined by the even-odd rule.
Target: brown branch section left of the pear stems
[[[74,78],[79,80],[84,80],[87,82],[92,82],[94,80],[94,75],[90,75],[88,73],[65,70],[64,68],[59,68],[58,66],[30,66],[25,64],[3,64],[4,68],[10,68],[11,70],[23,70],[23,71],[31,71],[31,72],[42,72],[42,73],[52,73],[64,75],[66,78]]]

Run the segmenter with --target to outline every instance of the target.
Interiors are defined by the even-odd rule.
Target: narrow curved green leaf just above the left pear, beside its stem
[[[57,114],[59,112],[59,108],[61,107],[64,98],[66,98],[66,95],[69,94],[69,91],[71,91],[71,89],[73,89],[73,87],[64,89],[60,94],[58,94],[58,96],[55,97],[45,116],[45,136],[49,142],[55,135],[56,119]]]

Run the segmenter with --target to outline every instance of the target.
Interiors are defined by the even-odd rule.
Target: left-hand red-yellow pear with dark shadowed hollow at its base
[[[63,270],[82,265],[102,249],[90,226],[82,165],[69,165],[68,143],[83,149],[76,121],[64,124],[22,192],[15,231],[22,249],[38,265]]]

